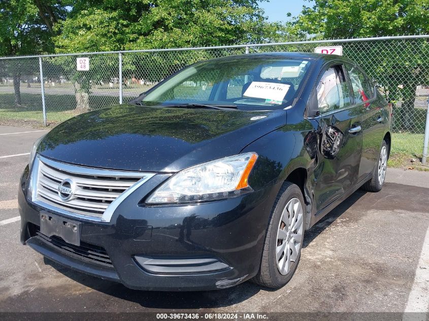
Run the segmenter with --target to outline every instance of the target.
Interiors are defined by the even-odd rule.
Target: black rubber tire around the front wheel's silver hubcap
[[[302,228],[302,240],[298,251],[298,256],[295,258],[293,265],[291,265],[287,274],[283,275],[280,273],[280,267],[278,267],[278,260],[276,256],[277,246],[280,246],[283,240],[277,239],[277,233],[279,230],[280,222],[282,218],[283,209],[289,201],[294,198],[299,199],[303,210],[303,228]],[[289,212],[289,211],[287,211]],[[295,221],[296,222],[296,221]],[[262,251],[262,259],[258,274],[253,277],[252,281],[259,284],[260,286],[280,289],[292,278],[295,273],[298,263],[301,258],[301,248],[304,239],[305,231],[305,202],[303,194],[298,186],[295,184],[285,182],[281,187],[279,194],[277,195],[276,201],[274,202],[273,209],[270,216],[270,222],[267,227],[266,239]],[[280,242],[280,245],[278,244]],[[291,251],[291,250],[290,250]],[[292,251],[293,252],[293,251]],[[285,252],[286,253],[286,252]]]

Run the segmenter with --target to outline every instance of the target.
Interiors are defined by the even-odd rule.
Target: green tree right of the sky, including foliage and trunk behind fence
[[[429,33],[429,0],[315,0],[289,24],[295,34],[312,38],[381,37]],[[366,57],[362,67],[374,75],[392,97],[402,97],[400,126],[413,127],[416,87],[429,83],[426,41],[372,43],[349,50]],[[390,60],[392,59],[392,60]],[[369,69],[371,68],[371,69]],[[369,70],[368,70],[369,69]]]

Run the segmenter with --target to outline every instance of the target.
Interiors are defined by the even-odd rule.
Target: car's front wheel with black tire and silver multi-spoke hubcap
[[[283,184],[271,213],[259,273],[253,278],[262,286],[279,289],[295,273],[304,239],[305,203],[295,184]]]

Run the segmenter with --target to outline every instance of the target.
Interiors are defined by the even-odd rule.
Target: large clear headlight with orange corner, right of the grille
[[[239,196],[252,191],[247,179],[258,155],[245,153],[186,168],[162,184],[146,203],[188,203]]]

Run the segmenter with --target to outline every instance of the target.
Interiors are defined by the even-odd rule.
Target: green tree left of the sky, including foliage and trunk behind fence
[[[109,0],[91,4],[71,0],[69,5],[72,10],[67,19],[56,25],[60,34],[54,43],[59,53],[261,42],[277,37],[281,27],[266,21],[256,0]],[[125,54],[123,75],[157,82],[213,54],[218,53]],[[76,101],[87,101],[82,96],[89,94],[93,78],[106,74],[105,65],[98,65],[96,57],[90,61],[91,73],[75,72],[70,77]],[[78,105],[81,111],[89,109]]]

